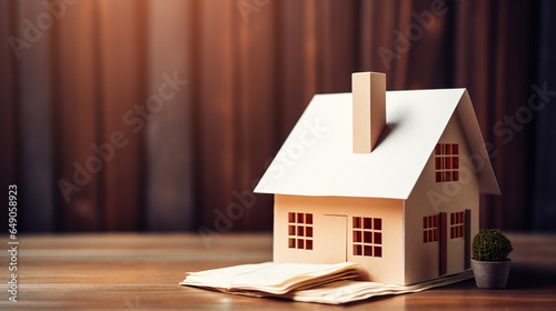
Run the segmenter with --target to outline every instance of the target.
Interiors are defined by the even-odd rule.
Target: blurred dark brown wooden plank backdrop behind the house
[[[0,0],[0,189],[18,187],[20,232],[269,231],[272,198],[252,189],[312,96],[380,71],[388,90],[468,89],[503,191],[481,197],[483,228],[556,231],[555,16],[549,0]]]

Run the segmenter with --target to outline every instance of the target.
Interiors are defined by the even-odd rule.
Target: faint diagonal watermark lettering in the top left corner
[[[20,60],[22,58],[22,52],[32,48],[33,43],[37,43],[44,31],[50,30],[54,26],[54,19],[61,19],[67,11],[67,6],[77,3],[79,0],[43,0],[42,7],[46,11],[37,14],[34,23],[30,19],[23,20],[23,36],[18,38],[16,36],[10,36],[8,42],[16,54],[16,58]]]

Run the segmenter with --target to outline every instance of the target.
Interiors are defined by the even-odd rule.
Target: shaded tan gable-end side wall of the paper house
[[[421,175],[406,201],[405,214],[405,283],[440,277],[439,242],[424,242],[424,217],[446,212],[448,217],[447,274],[464,271],[465,241],[450,239],[450,213],[471,210],[471,239],[478,232],[479,188],[470,164],[470,149],[458,113],[450,119],[439,143],[459,144],[459,181],[436,182],[435,153],[430,154]]]

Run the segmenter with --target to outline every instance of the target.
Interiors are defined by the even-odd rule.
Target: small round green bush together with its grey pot
[[[473,239],[471,268],[479,289],[504,289],[508,280],[512,242],[498,229],[484,229]]]

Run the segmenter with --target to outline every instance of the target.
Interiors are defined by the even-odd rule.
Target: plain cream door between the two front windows
[[[325,214],[322,219],[324,263],[347,261],[347,217]]]

